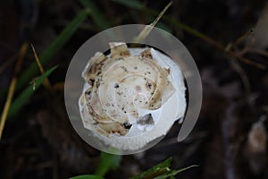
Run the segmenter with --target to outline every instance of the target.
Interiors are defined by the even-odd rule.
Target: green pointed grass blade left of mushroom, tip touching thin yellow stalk
[[[56,67],[57,66],[54,66],[53,68],[49,69],[36,79],[35,90],[33,90],[33,87],[30,85],[26,90],[23,90],[21,92],[21,95],[13,101],[10,107],[9,110],[10,117],[13,117],[19,112],[21,107],[23,107],[23,105],[25,105],[29,101],[29,98],[35,93],[36,90],[38,90],[43,81],[45,81],[45,79],[56,69]]]

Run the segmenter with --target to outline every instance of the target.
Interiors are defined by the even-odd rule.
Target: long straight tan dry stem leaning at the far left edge
[[[5,124],[6,119],[7,119],[8,111],[9,111],[9,108],[10,108],[12,100],[13,100],[13,95],[14,95],[14,91],[15,91],[15,88],[16,88],[17,80],[18,80],[18,74],[21,71],[21,65],[22,65],[24,57],[25,57],[25,55],[26,55],[26,53],[28,51],[28,47],[29,47],[29,44],[26,43],[26,42],[21,45],[19,58],[18,58],[17,64],[15,65],[13,79],[12,79],[11,84],[9,86],[7,98],[6,98],[6,101],[5,101],[5,104],[4,104],[4,110],[3,110],[3,113],[1,115],[0,141],[2,139],[2,134],[3,134],[3,130],[4,130],[4,124]]]

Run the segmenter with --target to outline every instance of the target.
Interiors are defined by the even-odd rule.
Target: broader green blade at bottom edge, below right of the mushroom
[[[147,171],[133,176],[130,179],[141,179],[141,178],[154,178],[157,175],[161,175],[165,172],[168,172],[170,169],[169,167],[171,166],[172,158],[168,158],[162,163],[153,166],[152,168],[148,169]]]

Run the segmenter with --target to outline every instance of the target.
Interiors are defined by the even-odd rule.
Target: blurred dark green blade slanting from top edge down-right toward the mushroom
[[[105,16],[103,15],[104,13],[101,13],[96,4],[94,4],[91,0],[79,0],[79,2],[85,8],[90,10],[89,14],[100,30],[111,28],[110,23],[105,20]]]

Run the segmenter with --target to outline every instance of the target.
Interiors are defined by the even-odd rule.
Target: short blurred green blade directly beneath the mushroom
[[[104,176],[110,170],[116,170],[121,162],[120,155],[101,153],[101,161],[96,167],[96,175]]]

